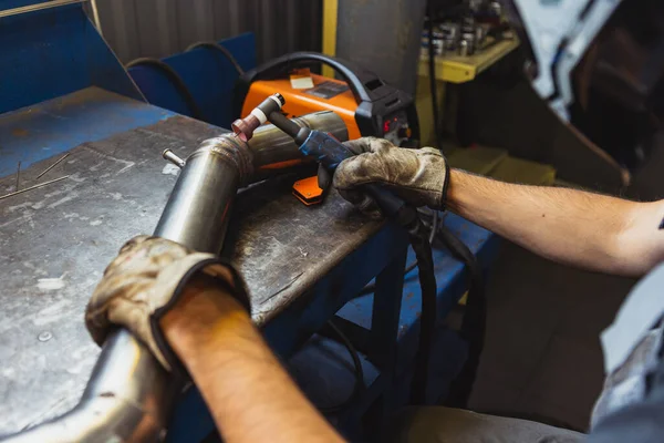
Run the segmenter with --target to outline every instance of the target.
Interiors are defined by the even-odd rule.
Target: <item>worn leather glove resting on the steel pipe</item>
[[[250,311],[242,279],[219,257],[195,253],[164,238],[138,236],[127,241],[106,267],[85,309],[85,326],[100,346],[114,326],[123,326],[167,370],[184,372],[162,334],[159,319],[199,272],[212,277]]]

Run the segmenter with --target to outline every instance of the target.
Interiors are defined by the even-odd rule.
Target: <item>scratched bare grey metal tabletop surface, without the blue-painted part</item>
[[[160,152],[185,156],[218,133],[165,115],[77,145],[40,182],[69,178],[0,200],[0,435],[75,405],[100,352],[84,327],[85,303],[118,247],[152,233],[175,183],[177,169]],[[21,172],[21,186],[34,184],[61,155],[32,163]],[[14,182],[14,175],[0,178],[0,194]],[[273,185],[240,193],[236,218],[234,260],[259,323],[381,228],[336,195],[312,209]]]

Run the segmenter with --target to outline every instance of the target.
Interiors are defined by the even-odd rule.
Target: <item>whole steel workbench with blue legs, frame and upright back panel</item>
[[[20,188],[68,177],[0,199],[0,435],[76,404],[100,354],[84,327],[85,303],[120,246],[154,229],[178,173],[160,158],[162,151],[184,157],[225,131],[146,104],[80,4],[2,23],[0,196],[14,190],[19,162]],[[236,56],[246,69],[253,61],[250,51]],[[225,68],[214,66],[218,70],[209,72]],[[212,104],[225,96],[226,83],[215,90]],[[70,155],[37,179],[64,153]],[[370,395],[352,411],[360,414],[386,398],[397,359],[409,360],[403,349],[413,349],[416,340],[419,293],[412,274],[403,286],[406,236],[363,217],[334,193],[321,206],[304,207],[290,195],[291,183],[284,177],[240,190],[229,228],[235,249],[225,253],[245,275],[253,319],[274,351],[286,360],[302,349],[289,365],[305,390],[311,374],[332,380],[329,387],[341,394],[334,383],[352,379],[347,364],[328,370],[321,352],[305,354],[335,346],[317,337],[308,341],[328,319],[338,313],[369,331],[363,340],[370,352],[362,359]],[[454,216],[445,223],[474,253],[490,256],[489,233]],[[465,291],[464,266],[444,250],[435,254],[444,317]],[[373,278],[377,292],[355,298]],[[347,359],[343,350],[339,356]],[[385,410],[396,404],[383,403]],[[167,439],[200,441],[211,429],[190,389]]]

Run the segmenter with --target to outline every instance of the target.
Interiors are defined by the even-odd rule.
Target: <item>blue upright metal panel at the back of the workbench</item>
[[[0,20],[0,113],[90,86],[143,100],[81,4]]]

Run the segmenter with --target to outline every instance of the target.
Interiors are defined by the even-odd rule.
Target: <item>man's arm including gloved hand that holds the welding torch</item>
[[[664,259],[664,200],[634,203],[574,189],[512,185],[449,171],[437,150],[386,140],[346,142],[357,154],[334,173],[349,202],[369,207],[361,186],[376,183],[416,206],[447,207],[536,254],[585,269],[640,276]]]

